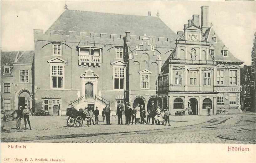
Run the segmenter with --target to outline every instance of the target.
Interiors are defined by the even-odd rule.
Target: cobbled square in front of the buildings
[[[71,143],[256,143],[256,115],[171,116],[171,126],[99,125],[67,127],[66,116],[32,116],[33,130],[15,130],[6,124],[2,142]],[[124,117],[123,117],[124,119]]]

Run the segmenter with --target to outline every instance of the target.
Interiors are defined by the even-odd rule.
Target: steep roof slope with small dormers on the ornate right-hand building
[[[214,34],[217,36],[217,43],[213,43],[212,36]],[[230,50],[228,50],[227,56],[224,57],[222,55],[221,50],[222,50],[222,47],[224,47],[225,44],[222,42],[221,38],[217,35],[217,33],[215,33],[215,31],[212,27],[209,28],[209,32],[207,32],[207,30],[206,30],[206,33],[204,35],[208,35],[207,41],[209,41],[215,49],[215,52],[214,52],[215,53],[214,54],[215,59],[214,60],[216,60],[216,61],[242,62],[243,63],[243,61],[234,57],[233,54],[230,52]]]

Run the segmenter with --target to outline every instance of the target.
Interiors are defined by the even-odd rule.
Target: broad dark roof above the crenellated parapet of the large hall
[[[65,10],[49,30],[177,38],[158,17]]]

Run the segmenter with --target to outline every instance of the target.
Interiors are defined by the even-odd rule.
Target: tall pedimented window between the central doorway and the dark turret
[[[114,89],[123,89],[124,84],[124,68],[114,68]]]

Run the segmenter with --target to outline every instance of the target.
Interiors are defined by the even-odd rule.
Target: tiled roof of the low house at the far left
[[[16,56],[17,62],[19,63],[33,63],[34,51],[10,51],[10,52],[1,52],[1,74],[4,71],[4,64],[13,65],[15,62]]]

